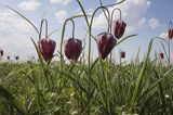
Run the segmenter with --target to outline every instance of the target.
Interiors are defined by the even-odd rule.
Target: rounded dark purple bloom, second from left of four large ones
[[[69,38],[64,42],[64,52],[68,60],[77,61],[81,51],[82,51],[81,40]]]

